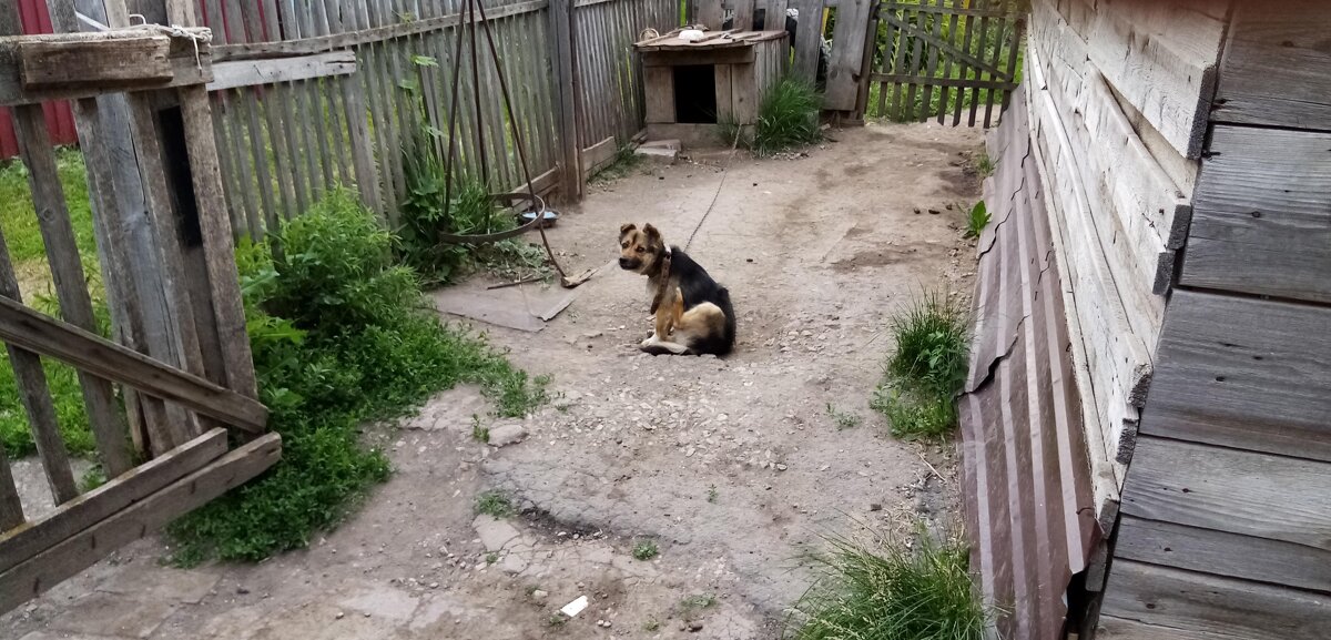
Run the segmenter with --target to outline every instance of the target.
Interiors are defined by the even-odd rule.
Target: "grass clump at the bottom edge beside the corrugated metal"
[[[958,539],[910,544],[831,539],[820,577],[787,620],[788,640],[981,640],[993,612],[972,583]]]

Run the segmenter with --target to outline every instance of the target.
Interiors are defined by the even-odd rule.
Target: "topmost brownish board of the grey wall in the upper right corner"
[[[1331,4],[1234,3],[1211,120],[1331,130]]]

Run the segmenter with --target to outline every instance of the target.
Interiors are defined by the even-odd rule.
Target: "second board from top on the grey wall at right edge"
[[[1331,133],[1217,125],[1179,283],[1331,302]]]

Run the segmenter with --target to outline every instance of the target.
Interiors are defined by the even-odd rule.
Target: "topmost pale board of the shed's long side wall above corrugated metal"
[[[1179,154],[1202,153],[1225,20],[1198,5],[1113,0],[1095,5],[1087,55]]]

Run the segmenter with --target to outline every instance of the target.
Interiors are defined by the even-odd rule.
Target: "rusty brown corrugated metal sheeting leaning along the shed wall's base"
[[[1081,398],[1025,93],[992,134],[976,337],[960,400],[972,567],[1008,640],[1062,637],[1065,592],[1099,535]]]

